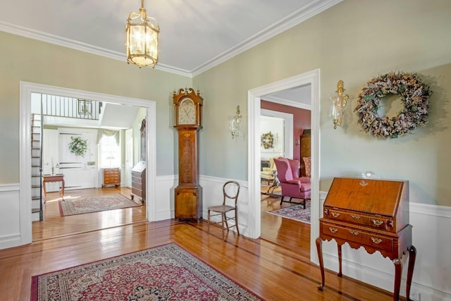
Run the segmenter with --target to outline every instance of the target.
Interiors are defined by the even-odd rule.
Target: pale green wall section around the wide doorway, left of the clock
[[[0,184],[19,182],[19,82],[156,102],[156,174],[173,175],[172,92],[192,79],[0,32]]]

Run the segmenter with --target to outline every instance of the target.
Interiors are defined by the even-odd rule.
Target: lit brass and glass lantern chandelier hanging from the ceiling
[[[127,63],[155,67],[158,62],[158,34],[160,26],[155,18],[148,17],[141,0],[139,13],[130,13],[125,26],[127,33]]]

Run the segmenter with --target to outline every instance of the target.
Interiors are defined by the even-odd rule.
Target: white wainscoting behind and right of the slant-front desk
[[[321,208],[327,192],[320,193]],[[321,212],[322,216],[322,212]],[[415,300],[451,300],[451,207],[410,203],[410,224],[416,262],[412,279],[411,297]],[[326,269],[338,271],[335,240],[323,242],[323,260]],[[400,295],[405,296],[408,256],[403,257]],[[364,281],[393,292],[395,267],[380,252],[368,254],[360,247],[342,246],[342,272],[346,276]],[[326,285],[328,283],[326,276]],[[320,281],[321,279],[319,279]],[[327,289],[327,288],[326,288]]]

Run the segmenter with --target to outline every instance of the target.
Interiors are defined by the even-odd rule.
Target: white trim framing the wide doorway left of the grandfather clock
[[[32,82],[20,82],[20,138],[19,138],[19,170],[20,170],[20,244],[32,242],[31,215],[31,94],[63,95],[98,102],[128,104],[147,109],[147,212],[149,221],[155,220],[156,212],[156,102],[146,99],[118,97],[110,94],[73,90]]]

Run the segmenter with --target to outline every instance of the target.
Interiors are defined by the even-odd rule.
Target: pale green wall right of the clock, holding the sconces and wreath
[[[194,78],[204,91],[201,174],[247,180],[247,137],[230,139],[228,115],[247,117],[247,91],[321,70],[320,190],[335,176],[409,180],[411,202],[451,206],[451,1],[345,0]],[[371,78],[418,72],[434,94],[426,128],[395,140],[366,135],[353,112]],[[329,95],[345,82],[350,101],[341,128],[328,116]],[[389,112],[390,113],[390,112]],[[245,118],[246,119],[246,118]],[[247,120],[245,120],[247,123]]]

